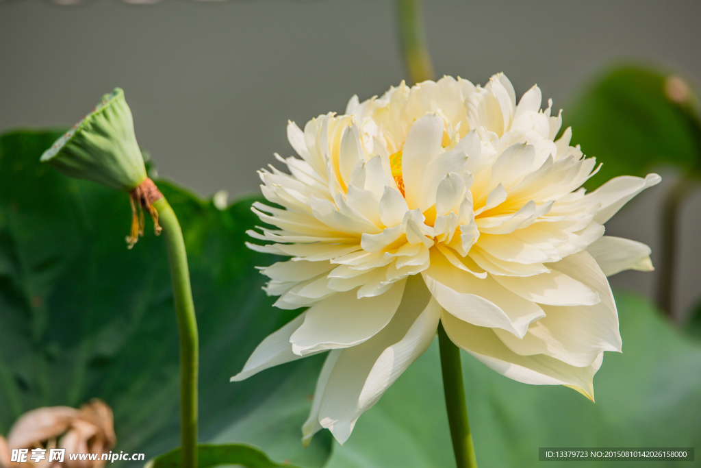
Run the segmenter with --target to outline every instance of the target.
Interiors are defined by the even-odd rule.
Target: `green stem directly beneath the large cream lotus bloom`
[[[472,432],[470,432],[470,421],[468,420],[468,408],[465,406],[460,349],[445,333],[443,323],[438,324],[438,345],[440,346],[445,406],[448,410],[455,462],[458,468],[477,468],[475,447],[472,445]]]

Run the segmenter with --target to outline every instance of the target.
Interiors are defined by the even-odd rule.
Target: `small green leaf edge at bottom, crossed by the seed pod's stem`
[[[295,468],[294,465],[271,462],[264,453],[255,447],[240,443],[226,445],[201,444],[198,446],[198,468],[212,468],[221,464],[238,464],[247,468]],[[144,468],[179,468],[180,449],[176,448],[160,457],[149,460]]]

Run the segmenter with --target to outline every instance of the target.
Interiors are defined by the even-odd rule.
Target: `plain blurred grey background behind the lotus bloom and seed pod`
[[[423,11],[439,76],[484,83],[503,71],[517,95],[538,83],[564,112],[615,61],[659,64],[701,84],[698,1],[425,0]],[[0,132],[71,126],[120,86],[160,175],[204,196],[257,191],[255,171],[273,152],[292,154],[287,119],[303,127],[405,77],[389,0],[0,0]],[[661,185],[606,225],[648,243],[653,262],[662,195],[676,176],[660,173]],[[701,297],[700,213],[697,190],[683,208],[677,318]],[[655,281],[611,279],[651,297]]]

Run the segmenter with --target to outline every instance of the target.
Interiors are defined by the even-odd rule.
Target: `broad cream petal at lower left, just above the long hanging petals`
[[[358,299],[355,290],[336,293],[307,309],[304,323],[292,333],[292,352],[306,356],[325,349],[358,345],[382,330],[402,300],[405,280],[376,297]]]

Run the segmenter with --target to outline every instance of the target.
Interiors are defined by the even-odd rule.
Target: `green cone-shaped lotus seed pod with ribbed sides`
[[[124,91],[115,88],[41,155],[41,161],[74,178],[130,192],[147,178]]]

